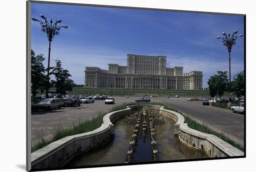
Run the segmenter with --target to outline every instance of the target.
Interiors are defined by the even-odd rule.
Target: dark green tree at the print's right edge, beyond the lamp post
[[[245,89],[244,89],[244,71],[237,73],[234,76],[232,81],[232,91],[236,94],[237,97],[244,96]]]

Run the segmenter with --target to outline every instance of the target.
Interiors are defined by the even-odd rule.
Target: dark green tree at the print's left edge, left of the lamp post
[[[38,90],[42,91],[45,89],[46,76],[44,74],[44,60],[43,54],[35,56],[34,51],[31,50],[31,92],[33,96],[38,93]]]

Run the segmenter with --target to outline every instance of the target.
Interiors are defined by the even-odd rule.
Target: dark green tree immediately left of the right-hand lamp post
[[[228,91],[229,80],[227,71],[217,71],[217,75],[210,76],[208,80],[209,94],[211,97],[222,97]]]

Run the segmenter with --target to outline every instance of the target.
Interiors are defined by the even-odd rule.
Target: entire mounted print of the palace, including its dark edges
[[[27,171],[246,157],[245,14],[27,1]]]

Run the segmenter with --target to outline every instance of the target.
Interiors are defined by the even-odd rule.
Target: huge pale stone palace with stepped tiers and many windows
[[[127,54],[127,66],[85,68],[85,86],[132,89],[202,89],[202,71],[166,67],[166,56]]]

